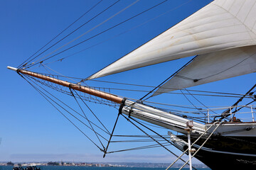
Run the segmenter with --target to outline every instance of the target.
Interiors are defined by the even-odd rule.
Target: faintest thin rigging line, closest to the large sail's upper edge
[[[149,19],[148,21],[145,21],[144,23],[139,24],[138,26],[135,26],[135,27],[133,27],[133,28],[130,28],[130,29],[128,29],[128,30],[125,30],[125,31],[122,32],[122,33],[119,33],[119,34],[117,34],[117,35],[112,36],[111,38],[107,38],[106,40],[102,40],[101,42],[98,42],[98,43],[96,43],[95,45],[91,45],[90,47],[87,47],[87,48],[85,48],[85,49],[83,49],[83,50],[80,50],[79,52],[75,52],[75,53],[73,53],[72,55],[68,55],[68,56],[66,56],[66,57],[61,58],[60,60],[55,60],[55,61],[53,61],[53,62],[58,62],[58,61],[65,60],[65,59],[67,59],[68,57],[72,57],[73,55],[77,55],[77,54],[80,53],[80,52],[83,52],[83,51],[88,50],[88,49],[90,49],[90,48],[92,48],[92,47],[95,47],[95,46],[97,46],[97,45],[100,45],[100,44],[102,44],[103,42],[107,42],[107,41],[109,41],[109,40],[112,40],[112,39],[114,39],[114,38],[117,38],[117,37],[120,36],[120,35],[123,35],[123,34],[125,34],[125,33],[128,33],[129,31],[134,30],[135,28],[138,28],[138,27],[140,27],[140,26],[143,26],[144,24],[149,23],[149,22],[151,22],[151,21],[154,21],[156,18],[159,18],[159,17],[161,17],[161,16],[166,15],[166,13],[169,13],[169,12],[171,12],[171,11],[174,11],[174,10],[176,10],[177,8],[180,8],[181,6],[183,6],[183,5],[185,5],[185,4],[188,4],[190,1],[192,1],[192,0],[186,1],[185,3],[181,4],[180,6],[176,6],[175,8],[172,8],[172,9],[169,10],[169,11],[166,11],[166,12],[164,12],[164,13],[161,13],[159,16],[156,16],[156,17],[154,17],[154,18],[151,18],[151,19]],[[48,62],[47,64],[51,64],[51,63],[53,63],[53,62]]]

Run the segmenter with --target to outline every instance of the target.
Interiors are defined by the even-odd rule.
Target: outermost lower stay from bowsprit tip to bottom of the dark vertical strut
[[[19,73],[18,73],[19,74]],[[25,77],[22,76],[22,74],[19,74],[23,79],[25,79]],[[29,82],[27,79],[25,79],[28,84],[31,84],[31,82]],[[82,132],[82,130],[80,130],[80,128],[78,128],[77,125],[75,125],[67,116],[65,116],[56,106],[53,105],[53,103],[51,103],[48,98],[53,101],[49,96],[47,96],[46,94],[44,94],[41,90],[39,90],[38,88],[36,88],[36,86],[34,86],[33,84],[31,84],[31,86],[33,86],[34,89],[36,89],[36,91],[38,91],[39,94],[41,94],[41,96],[43,96],[43,98],[46,99],[46,101],[48,101],[59,113],[61,113],[70,123],[72,123],[75,128],[77,128],[80,132]],[[47,97],[47,98],[46,98]],[[55,101],[53,101],[55,102]],[[58,104],[58,103],[57,103]],[[60,106],[61,107],[61,106]],[[85,135],[84,132],[82,132],[83,135]],[[93,142],[90,137],[88,137],[87,135],[85,135],[85,137],[87,137],[88,140],[90,140],[98,149],[100,149],[100,151],[102,151],[102,149],[95,143]]]

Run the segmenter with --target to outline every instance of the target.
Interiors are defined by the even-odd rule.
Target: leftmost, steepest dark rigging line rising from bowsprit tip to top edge
[[[102,0],[100,0],[97,4],[95,4],[95,6],[92,6],[92,8],[90,8],[90,9],[87,10],[85,13],[83,13],[82,16],[80,16],[77,20],[75,20],[73,23],[71,23],[70,26],[73,26],[74,23],[76,23],[78,20],[80,20],[80,18],[82,18],[83,16],[85,16],[87,13],[89,13],[93,8],[95,8],[98,4],[100,4],[100,2],[102,2]],[[60,34],[62,34],[63,32],[65,32],[65,30],[68,30],[68,28],[70,28],[70,26],[68,26],[68,27],[65,28],[63,31],[61,31],[58,35],[55,36],[55,38],[58,38],[58,36],[59,36]],[[68,35],[67,35],[66,37],[68,37]],[[65,38],[66,38],[66,37],[65,37]],[[46,45],[48,45],[50,42],[52,42],[53,40],[55,40],[55,38],[53,38],[53,39],[50,40],[48,43],[46,43]],[[63,40],[63,39],[62,39],[62,40]],[[60,41],[58,41],[58,42],[60,42]],[[58,43],[58,42],[57,42],[57,43]],[[56,43],[56,44],[57,44],[57,43]],[[36,55],[36,53],[38,53],[39,51],[41,51],[44,47],[46,47],[46,45],[44,45],[43,47],[41,47],[41,49],[39,49],[37,52],[35,52],[33,55],[31,55],[31,57],[33,57],[34,55]],[[54,46],[54,45],[53,45],[53,46]],[[51,47],[53,47],[53,46],[51,46]],[[47,50],[49,50],[51,47],[49,47]],[[45,51],[43,51],[43,52],[46,52],[47,50],[45,50]],[[43,52],[42,52],[41,54],[43,54]],[[41,54],[40,54],[40,55],[41,55]],[[39,56],[39,55],[38,55],[38,56]],[[36,56],[36,57],[38,57],[38,56]],[[23,63],[21,63],[17,68],[20,69],[22,66],[25,66],[26,64],[28,64],[28,62],[31,62],[32,60],[36,59],[36,57],[34,57],[32,60],[30,60],[31,57],[29,57],[27,60],[25,60]],[[30,61],[28,61],[28,60],[30,60]],[[28,62],[27,62],[27,61],[28,61]],[[27,63],[25,64],[25,62],[27,62]]]

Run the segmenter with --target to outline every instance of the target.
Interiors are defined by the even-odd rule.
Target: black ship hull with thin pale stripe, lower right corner
[[[186,135],[180,138],[186,140]],[[205,140],[196,142],[195,149]],[[256,137],[210,137],[195,157],[210,169],[256,169]]]

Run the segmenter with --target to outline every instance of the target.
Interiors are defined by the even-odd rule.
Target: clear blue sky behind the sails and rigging
[[[110,6],[114,1],[103,1],[97,9],[88,13],[82,18],[80,23],[73,26],[80,26],[88,18],[99,13],[106,6]],[[174,26],[179,21],[191,15],[199,8],[202,8],[210,1],[192,0],[192,1],[167,1],[161,6],[135,18],[132,21],[124,23],[122,26],[114,28],[109,32],[100,35],[81,46],[63,53],[61,57],[66,57],[73,52],[83,50],[91,45],[95,45],[102,40],[110,40],[91,47],[78,55],[69,57],[63,62],[55,62],[49,64],[48,67],[54,69],[66,76],[86,78],[91,74],[114,62],[119,57],[127,54],[144,42],[154,38],[164,30]],[[107,13],[92,21],[78,33],[75,33],[72,40],[76,36],[85,33],[86,30],[97,26],[105,19],[112,16],[120,9],[131,4],[132,1],[120,1],[116,6],[111,8]],[[125,18],[134,16],[144,11],[146,8],[158,4],[159,1],[141,0],[134,6],[127,9],[118,16],[112,18],[109,22],[103,24],[99,28],[89,33],[88,37],[100,33],[100,31],[110,28],[115,24],[123,21]],[[171,162],[174,159],[164,149],[148,149],[134,152],[120,152],[117,154],[107,155],[102,159],[102,152],[99,152],[90,141],[87,140],[77,129],[73,127],[58,111],[50,106],[44,98],[38,94],[26,81],[18,76],[15,72],[6,69],[10,65],[17,67],[29,56],[40,49],[51,38],[60,33],[61,30],[73,23],[76,18],[82,15],[88,8],[93,6],[95,1],[0,1],[0,17],[1,17],[1,119],[0,119],[0,161],[50,161],[50,160],[68,160],[68,161],[85,161],[85,162]],[[183,5],[182,5],[183,4]],[[182,6],[181,6],[182,5]],[[180,6],[179,8],[176,8]],[[174,9],[174,10],[171,10]],[[166,13],[160,16],[162,13]],[[153,21],[139,26],[141,23],[149,21],[151,18],[160,16]],[[137,27],[136,29],[132,29]],[[70,29],[70,30],[72,30]],[[119,35],[126,30],[129,32]],[[114,37],[114,38],[112,38]],[[59,59],[56,57],[51,61]],[[103,77],[101,80],[119,81],[131,84],[144,84],[149,86],[157,86],[169,74],[174,73],[179,67],[186,63],[189,59],[174,62],[166,62],[158,66],[150,66],[147,68],[136,69],[122,74]],[[42,69],[32,69],[40,72]],[[46,71],[45,71],[46,72]],[[166,74],[167,73],[167,74]],[[225,91],[243,94],[255,82],[252,78],[255,75],[249,74],[240,78],[233,78],[232,86],[230,80],[225,80],[222,85],[215,83],[203,86],[204,90]],[[90,84],[90,82],[88,83]],[[95,85],[94,83],[92,83]],[[112,85],[116,87],[117,85]],[[228,88],[223,89],[223,87]],[[197,88],[197,87],[196,87]],[[196,89],[194,88],[194,89]],[[201,87],[199,87],[201,89]],[[131,98],[139,98],[144,93],[134,93],[131,91],[114,91],[114,94],[127,96]],[[59,95],[59,94],[56,94]],[[63,97],[75,106],[73,99]],[[70,101],[72,100],[72,101]],[[156,101],[168,101],[168,103],[184,103],[181,97],[160,98],[156,97]],[[203,99],[211,106],[225,106],[233,104],[234,98],[228,99],[225,103],[215,98]],[[95,113],[99,113],[101,118],[107,124],[107,128],[112,130],[117,110],[106,106],[95,106],[89,103]],[[77,106],[75,106],[77,107]],[[117,133],[137,133],[132,125],[120,120]],[[160,130],[166,134],[166,130]],[[139,132],[138,132],[139,133]],[[114,146],[122,147],[121,145]],[[125,146],[129,147],[129,146]],[[172,148],[174,149],[174,148]],[[156,152],[157,151],[157,152]],[[179,153],[176,149],[174,152]],[[156,154],[155,154],[156,153]]]

